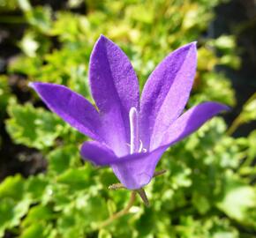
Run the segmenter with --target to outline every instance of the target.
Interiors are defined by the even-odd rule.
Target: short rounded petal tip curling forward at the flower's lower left
[[[80,154],[84,160],[89,160],[95,165],[105,166],[118,160],[115,153],[107,145],[97,141],[86,141],[81,146]]]

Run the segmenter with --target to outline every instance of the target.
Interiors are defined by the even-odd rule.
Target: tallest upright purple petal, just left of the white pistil
[[[101,36],[89,68],[90,86],[106,125],[108,145],[119,155],[125,154],[125,143],[130,143],[129,111],[139,107],[139,84],[132,64],[114,42]]]

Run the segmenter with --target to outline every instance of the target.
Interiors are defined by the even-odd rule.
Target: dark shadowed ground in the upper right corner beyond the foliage
[[[227,116],[231,123],[240,113],[243,104],[256,92],[256,3],[254,0],[231,0],[216,8],[216,19],[213,23],[214,37],[222,34],[237,36],[238,54],[242,65],[238,71],[222,68],[231,79],[236,91],[237,106]],[[235,137],[247,136],[256,129],[256,122],[241,126]]]

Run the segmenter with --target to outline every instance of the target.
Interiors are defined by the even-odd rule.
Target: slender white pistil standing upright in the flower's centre
[[[131,108],[129,112],[131,130],[131,154],[139,152],[139,115],[136,108]]]

